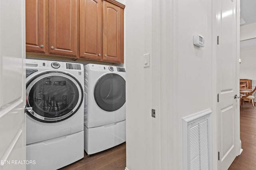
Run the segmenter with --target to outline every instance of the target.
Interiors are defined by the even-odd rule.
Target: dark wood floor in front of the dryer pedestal
[[[84,158],[60,170],[124,170],[126,167],[126,143],[92,154],[84,152]]]

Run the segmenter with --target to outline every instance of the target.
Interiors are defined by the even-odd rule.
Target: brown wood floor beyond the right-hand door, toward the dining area
[[[251,103],[240,109],[240,139],[243,152],[228,170],[256,170],[256,108]]]

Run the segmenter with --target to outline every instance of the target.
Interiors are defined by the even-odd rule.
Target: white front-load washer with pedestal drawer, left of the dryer
[[[84,157],[84,65],[26,59],[27,170],[56,170]]]

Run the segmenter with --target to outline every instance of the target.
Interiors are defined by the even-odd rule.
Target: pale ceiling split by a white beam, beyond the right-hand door
[[[256,22],[256,0],[240,0],[240,26]],[[256,38],[240,41],[240,48],[256,47]]]

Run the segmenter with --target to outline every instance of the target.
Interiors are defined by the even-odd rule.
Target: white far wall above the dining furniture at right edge
[[[240,79],[252,79],[252,88],[256,86],[256,47],[240,49]]]

